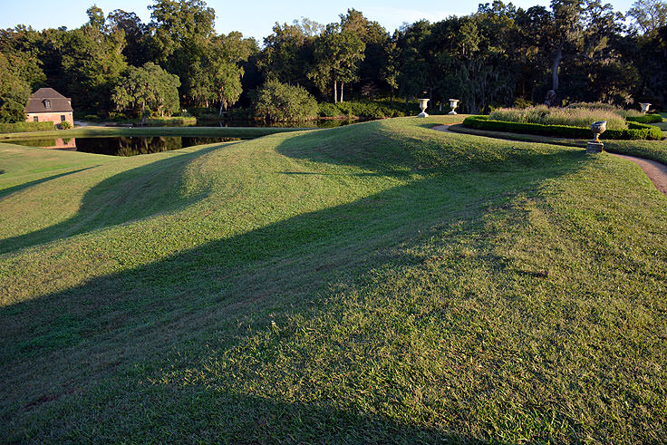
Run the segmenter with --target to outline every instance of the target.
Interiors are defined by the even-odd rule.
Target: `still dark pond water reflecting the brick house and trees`
[[[121,137],[121,138],[60,138],[43,140],[13,140],[10,143],[44,149],[83,151],[111,156],[135,156],[179,150],[194,145],[239,140],[235,138],[186,138],[177,136]]]

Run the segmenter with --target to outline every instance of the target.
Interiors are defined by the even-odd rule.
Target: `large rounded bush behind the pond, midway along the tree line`
[[[317,102],[302,87],[268,81],[253,94],[257,117],[269,121],[304,121],[317,116]]]

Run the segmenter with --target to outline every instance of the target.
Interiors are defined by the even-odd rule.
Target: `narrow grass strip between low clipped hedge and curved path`
[[[486,136],[488,138],[503,140],[520,140],[524,142],[540,142],[567,147],[585,148],[586,140],[574,140],[563,138],[551,138],[548,136],[536,136],[531,134],[509,133],[505,131],[484,131],[469,129],[462,125],[453,125],[449,131],[462,134],[477,136]],[[611,153],[627,154],[645,158],[648,160],[657,160],[667,164],[667,139],[663,140],[604,140],[604,150]]]

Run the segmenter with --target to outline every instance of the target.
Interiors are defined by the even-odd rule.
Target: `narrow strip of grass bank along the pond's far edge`
[[[183,137],[210,137],[210,138],[241,138],[253,139],[290,131],[299,131],[293,128],[267,127],[80,127],[72,130],[33,131],[25,133],[0,134],[0,140],[25,140],[30,138],[85,138],[95,136],[183,136]]]

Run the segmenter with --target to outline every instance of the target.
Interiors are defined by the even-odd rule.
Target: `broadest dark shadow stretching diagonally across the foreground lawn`
[[[309,157],[291,145],[279,151]],[[314,159],[322,160],[319,155]],[[517,165],[494,175],[466,171],[425,176],[2,308],[0,420],[17,434],[14,439],[36,422],[28,429],[34,440],[48,430],[56,441],[82,439],[94,431],[108,433],[110,441],[302,442],[321,441],[323,434],[341,441],[398,437],[407,442],[412,435],[463,439],[336,410],[329,402],[285,403],[197,382],[150,382],[184,356],[188,363],[202,363],[210,347],[218,353],[232,351],[248,336],[270,329],[267,320],[275,314],[313,314],[320,305],[317,295],[333,283],[353,284],[370,269],[421,262],[423,258],[410,254],[391,253],[391,247],[410,250],[432,227],[461,220],[471,231],[481,230],[478,221],[489,206],[536,189],[544,180],[576,169],[582,160],[581,153],[564,151],[536,154],[529,162],[549,169]],[[242,329],[239,320],[246,320]],[[63,416],[68,421],[56,421]],[[74,431],[80,436],[68,436]],[[369,431],[375,434],[369,436]]]

